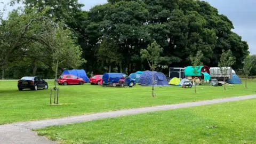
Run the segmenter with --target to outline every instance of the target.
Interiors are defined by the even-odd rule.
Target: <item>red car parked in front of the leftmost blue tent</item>
[[[58,79],[59,85],[84,84],[84,79],[74,75],[61,75]]]

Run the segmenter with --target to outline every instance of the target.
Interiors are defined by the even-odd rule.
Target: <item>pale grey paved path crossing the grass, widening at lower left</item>
[[[212,105],[214,103],[223,103],[223,102],[231,102],[231,101],[239,101],[239,100],[247,100],[247,99],[256,99],[256,95],[247,95],[243,97],[232,97],[232,98],[205,100],[205,101],[197,101],[197,102],[178,103],[173,105],[164,105],[164,106],[156,106],[156,107],[124,109],[124,110],[117,110],[117,111],[109,111],[106,113],[96,113],[96,114],[89,114],[89,115],[70,116],[70,117],[63,117],[63,118],[57,118],[57,119],[46,119],[41,121],[30,121],[30,122],[20,122],[20,123],[13,123],[13,124],[7,124],[7,125],[0,125],[0,143],[1,144],[2,143],[55,143],[53,141],[46,140],[44,137],[39,137],[38,135],[36,135],[35,132],[31,131],[31,129],[41,129],[46,126],[80,123],[80,122],[93,121],[93,120],[102,119],[102,118],[142,114],[142,113],[149,113],[149,112],[161,111],[161,110],[171,110],[171,109],[188,108],[188,107],[195,107],[195,106]]]

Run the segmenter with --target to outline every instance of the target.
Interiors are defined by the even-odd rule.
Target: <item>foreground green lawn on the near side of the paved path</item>
[[[255,99],[244,100],[53,126],[37,132],[61,143],[256,143],[255,107]]]

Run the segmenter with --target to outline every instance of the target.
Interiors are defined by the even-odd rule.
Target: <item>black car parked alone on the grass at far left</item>
[[[35,91],[38,89],[48,89],[48,83],[37,76],[25,76],[18,81],[18,89],[19,91],[22,91],[23,89]]]

